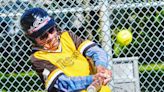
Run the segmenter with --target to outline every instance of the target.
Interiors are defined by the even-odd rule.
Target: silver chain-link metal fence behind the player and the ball
[[[0,91],[41,92],[31,69],[31,42],[19,25],[20,15],[42,7],[62,29],[102,45],[110,58],[139,57],[141,92],[164,91],[164,0],[0,0]],[[117,44],[128,29],[133,40]]]

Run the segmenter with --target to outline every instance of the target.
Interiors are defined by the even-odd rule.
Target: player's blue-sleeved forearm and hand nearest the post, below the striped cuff
[[[104,81],[103,85],[106,85],[112,77],[112,72],[111,70],[107,69],[109,66],[109,59],[108,59],[108,54],[100,47],[97,45],[86,49],[85,53],[86,56],[91,57],[93,61],[95,62],[95,66],[97,69],[97,73],[103,73],[104,75]]]

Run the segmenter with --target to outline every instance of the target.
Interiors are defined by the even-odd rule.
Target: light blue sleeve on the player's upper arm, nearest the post
[[[99,46],[95,45],[90,47],[84,54],[92,58],[96,66],[101,65],[108,67],[108,54]]]

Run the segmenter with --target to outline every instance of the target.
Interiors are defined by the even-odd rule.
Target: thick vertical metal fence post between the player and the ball
[[[109,55],[109,65],[108,68],[112,69],[112,43],[111,43],[111,31],[110,31],[110,11],[109,11],[109,2],[110,0],[103,0],[104,4],[100,8],[100,27],[102,27],[102,47],[107,51]],[[109,87],[113,91],[114,82],[113,79],[108,83]]]

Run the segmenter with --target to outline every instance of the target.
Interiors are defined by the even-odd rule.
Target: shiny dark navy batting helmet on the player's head
[[[37,38],[55,26],[55,20],[42,8],[26,10],[20,19],[22,29],[31,38]]]

